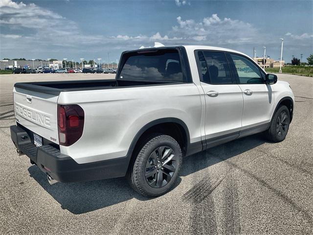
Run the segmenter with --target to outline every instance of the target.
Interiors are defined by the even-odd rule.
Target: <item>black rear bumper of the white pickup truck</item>
[[[63,182],[84,182],[125,176],[129,158],[78,164],[71,157],[62,154],[56,147],[45,144],[36,147],[30,133],[21,126],[11,126],[11,139],[15,146],[53,179]]]

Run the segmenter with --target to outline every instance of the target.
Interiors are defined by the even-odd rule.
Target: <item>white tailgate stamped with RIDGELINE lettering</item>
[[[57,124],[58,95],[13,89],[15,119],[43,138],[59,144]]]

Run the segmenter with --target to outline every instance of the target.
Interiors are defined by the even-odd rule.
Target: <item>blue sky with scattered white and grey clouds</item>
[[[226,47],[252,57],[313,53],[313,0],[0,0],[0,59],[116,62],[154,42]],[[108,53],[110,58],[108,58]]]

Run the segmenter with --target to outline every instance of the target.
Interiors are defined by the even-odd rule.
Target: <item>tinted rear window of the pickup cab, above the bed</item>
[[[179,53],[175,49],[136,51],[125,56],[120,79],[182,82]]]

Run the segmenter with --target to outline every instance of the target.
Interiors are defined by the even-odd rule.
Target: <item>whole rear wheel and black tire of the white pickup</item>
[[[182,163],[179,143],[170,136],[155,134],[144,141],[140,151],[136,152],[138,154],[126,174],[132,188],[146,197],[157,197],[168,192],[178,178]]]

